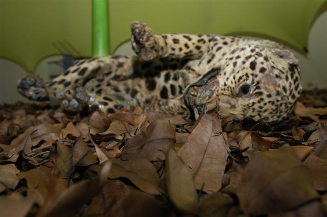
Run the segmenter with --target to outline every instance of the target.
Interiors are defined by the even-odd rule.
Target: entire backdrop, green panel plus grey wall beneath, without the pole
[[[216,33],[274,39],[291,47],[299,58],[303,86],[327,87],[326,6],[326,1],[112,0],[110,50],[131,54],[129,43],[124,42],[129,39],[133,20],[146,21],[157,34]],[[19,99],[16,80],[26,71],[46,79],[46,62],[53,59],[44,58],[67,53],[91,55],[90,1],[0,0],[0,103]]]

